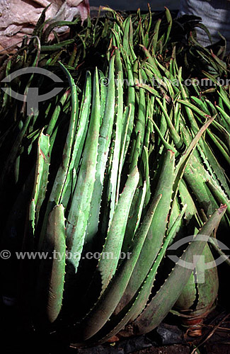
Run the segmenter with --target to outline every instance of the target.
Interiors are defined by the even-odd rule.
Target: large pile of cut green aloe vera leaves
[[[64,25],[60,38],[55,28]],[[39,67],[63,81],[36,113],[0,93],[1,249],[11,252],[1,261],[1,293],[28,326],[77,346],[125,326],[147,333],[195,277],[169,261],[168,247],[190,235],[229,246],[229,60],[224,38],[202,47],[197,27],[208,33],[200,18],[172,18],[168,8],[103,8],[83,24],[46,23],[44,11],[33,37],[2,62],[1,80]],[[24,95],[30,87],[41,95],[55,83],[38,74],[11,82]],[[222,254],[198,239],[178,256],[212,260],[211,250]],[[19,260],[16,252],[52,256]],[[199,316],[216,301],[214,272],[192,308]],[[194,289],[197,299],[203,290]]]

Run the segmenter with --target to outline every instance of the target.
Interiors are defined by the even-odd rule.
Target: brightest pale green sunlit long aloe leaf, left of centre
[[[93,80],[93,104],[91,110],[91,120],[88,127],[84,152],[76,182],[74,195],[67,217],[67,247],[72,254],[81,254],[86,227],[90,214],[91,200],[96,176],[96,163],[98,155],[98,138],[100,130],[100,90],[98,80],[98,70],[94,74]],[[79,265],[79,257],[69,260],[67,270],[76,273]],[[71,266],[73,269],[71,269]]]

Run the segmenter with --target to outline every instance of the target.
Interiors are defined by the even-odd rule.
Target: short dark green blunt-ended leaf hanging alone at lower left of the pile
[[[57,319],[62,307],[66,253],[64,223],[64,207],[54,206],[42,248],[49,257],[40,262],[36,292],[40,319],[49,323]]]

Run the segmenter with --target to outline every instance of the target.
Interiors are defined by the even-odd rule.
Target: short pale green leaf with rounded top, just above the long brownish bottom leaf
[[[137,167],[135,167],[132,173],[130,173],[130,176],[128,176],[125,187],[120,195],[113,219],[110,223],[110,228],[108,229],[105,244],[103,246],[103,253],[112,253],[113,258],[111,260],[107,259],[106,257],[103,257],[102,253],[98,263],[98,271],[100,272],[102,281],[102,292],[105,290],[105,287],[108,286],[108,283],[110,282],[110,279],[113,278],[117,268],[120,251],[122,249],[122,242],[125,235],[127,219],[129,217],[130,207],[138,181],[139,171]]]

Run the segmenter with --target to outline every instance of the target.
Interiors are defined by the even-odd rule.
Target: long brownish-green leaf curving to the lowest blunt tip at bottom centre
[[[160,199],[161,195],[151,203],[142,225],[130,246],[130,259],[121,263],[120,268],[117,269],[105,292],[100,297],[93,310],[91,310],[81,323],[81,333],[84,340],[91,338],[96,332],[98,332],[113,314],[113,311],[120,301],[125,287],[130,280],[134,265],[137,263],[139,253],[142,250],[144,240],[148,234],[152,218],[154,217],[154,212]]]

